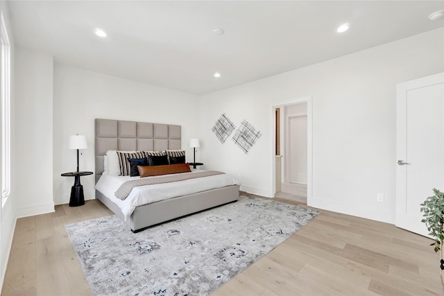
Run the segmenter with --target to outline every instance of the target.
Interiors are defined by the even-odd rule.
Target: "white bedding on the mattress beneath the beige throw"
[[[198,171],[199,170],[193,170],[191,173],[187,174],[192,174]],[[96,190],[100,191],[107,198],[110,198],[114,204],[117,204],[126,220],[129,216],[131,216],[131,214],[133,214],[136,207],[143,204],[158,202],[160,200],[167,200],[169,198],[176,198],[182,195],[198,193],[201,191],[207,191],[230,185],[240,185],[236,178],[232,177],[231,175],[222,174],[183,180],[179,182],[137,186],[133,189],[133,191],[131,191],[130,195],[128,195],[125,200],[119,200],[119,198],[115,197],[114,192],[119,189],[119,186],[123,184],[123,182],[139,178],[140,177],[101,175],[96,184]]]

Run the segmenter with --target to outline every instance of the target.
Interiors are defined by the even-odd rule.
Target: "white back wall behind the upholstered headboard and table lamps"
[[[191,162],[189,139],[198,137],[198,98],[101,73],[54,64],[53,195],[56,204],[69,202],[76,170],[76,150],[68,149],[71,134],[85,134],[80,170],[94,172],[94,119],[120,119],[182,125],[182,149]],[[81,177],[85,200],[94,199],[94,175]]]

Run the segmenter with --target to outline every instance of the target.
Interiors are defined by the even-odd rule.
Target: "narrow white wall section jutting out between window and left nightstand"
[[[54,211],[53,58],[16,48],[17,217]]]

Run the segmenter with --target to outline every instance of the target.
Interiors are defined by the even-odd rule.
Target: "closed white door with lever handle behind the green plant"
[[[428,236],[420,204],[444,191],[444,73],[397,85],[395,225]]]

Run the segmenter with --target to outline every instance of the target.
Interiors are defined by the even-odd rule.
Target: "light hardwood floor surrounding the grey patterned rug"
[[[18,219],[2,295],[91,295],[64,225],[110,214],[90,200]],[[430,243],[393,225],[323,211],[212,295],[444,295]]]

